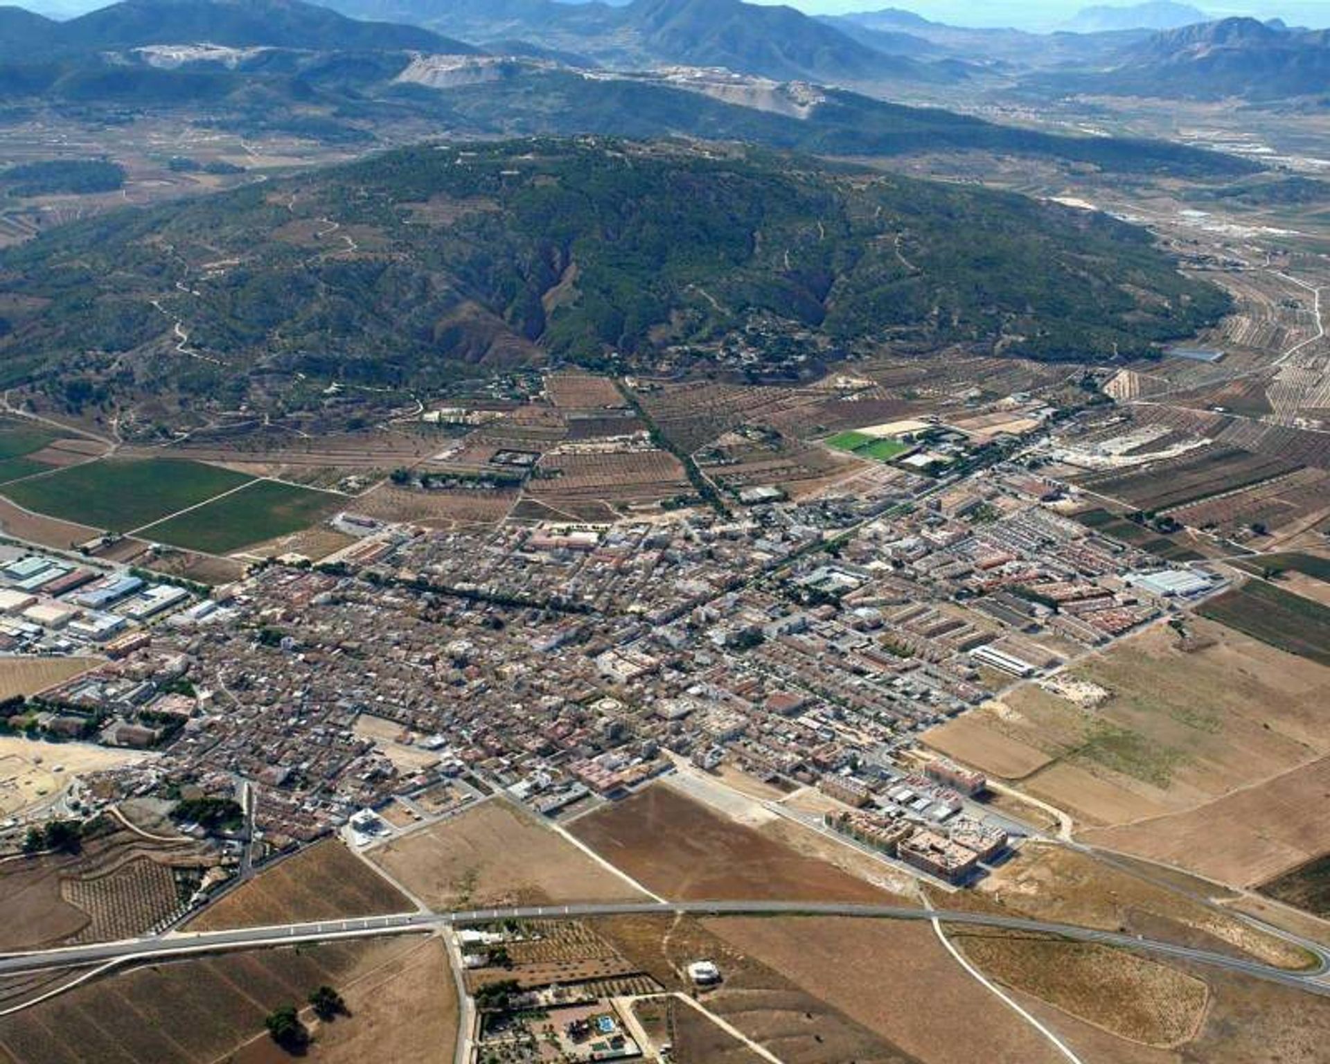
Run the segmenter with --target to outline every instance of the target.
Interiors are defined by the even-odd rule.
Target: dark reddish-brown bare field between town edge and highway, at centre
[[[581,817],[572,831],[665,898],[883,902],[892,896],[658,783]]]

